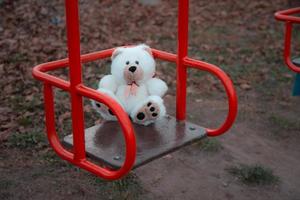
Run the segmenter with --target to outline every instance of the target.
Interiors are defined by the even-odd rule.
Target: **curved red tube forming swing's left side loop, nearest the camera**
[[[96,101],[102,102],[116,114],[117,118],[120,121],[121,128],[123,130],[125,144],[126,144],[126,158],[123,166],[118,170],[110,170],[107,168],[102,168],[95,165],[94,163],[89,162],[86,159],[76,160],[74,153],[66,150],[60,143],[55,130],[55,112],[54,112],[54,98],[52,92],[52,86],[45,83],[44,84],[44,101],[45,101],[45,115],[46,115],[46,129],[47,136],[51,147],[54,151],[63,159],[71,162],[74,165],[77,165],[95,175],[107,179],[107,180],[116,180],[124,175],[126,175],[131,169],[135,162],[136,155],[136,140],[134,135],[134,130],[131,125],[131,122],[128,118],[128,115],[123,110],[123,108],[115,102],[110,97],[103,95],[95,90],[89,89],[85,86],[78,86],[78,92],[81,95],[86,95],[89,98],[92,98]]]

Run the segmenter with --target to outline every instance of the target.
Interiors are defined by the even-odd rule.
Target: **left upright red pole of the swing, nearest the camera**
[[[80,162],[86,158],[86,155],[82,96],[79,95],[76,90],[76,87],[82,83],[78,0],[65,0],[65,7],[70,65],[73,151],[74,161]]]

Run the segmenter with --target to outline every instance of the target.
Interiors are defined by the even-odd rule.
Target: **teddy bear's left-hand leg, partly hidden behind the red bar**
[[[114,93],[112,93],[111,91],[106,90],[104,88],[99,88],[98,91],[109,95],[110,97],[115,99],[120,105],[122,105],[119,102],[119,100],[117,99],[116,95]],[[101,115],[101,117],[103,119],[108,120],[108,121],[116,121],[117,120],[115,114],[105,104],[92,100],[92,106]]]

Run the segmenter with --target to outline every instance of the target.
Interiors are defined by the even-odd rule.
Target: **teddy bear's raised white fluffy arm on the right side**
[[[149,95],[157,95],[160,97],[163,97],[168,90],[167,84],[163,80],[158,78],[150,79],[147,82],[147,88]]]

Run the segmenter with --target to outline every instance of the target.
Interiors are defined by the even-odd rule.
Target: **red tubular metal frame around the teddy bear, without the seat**
[[[66,24],[69,56],[66,59],[44,63],[34,67],[33,76],[44,83],[44,101],[46,129],[48,140],[55,152],[63,159],[77,165],[103,179],[115,180],[126,175],[133,167],[136,158],[136,139],[132,123],[122,107],[109,96],[102,94],[82,83],[81,64],[104,59],[111,56],[114,49],[98,51],[90,54],[80,54],[80,30],[78,0],[65,0]],[[231,79],[215,65],[191,59],[188,57],[188,10],[189,1],[179,0],[178,14],[178,54],[152,49],[157,59],[177,63],[177,94],[176,118],[186,118],[186,85],[187,68],[207,71],[218,79],[225,87],[228,96],[228,114],[225,122],[217,129],[207,128],[208,136],[218,136],[226,132],[233,124],[237,115],[237,96]],[[46,72],[69,66],[70,81],[62,80]],[[55,130],[55,113],[53,87],[67,91],[71,95],[73,150],[66,150],[60,143]],[[106,104],[115,114],[123,130],[126,144],[126,158],[120,169],[112,170],[98,166],[86,159],[84,138],[83,97],[94,99]]]

